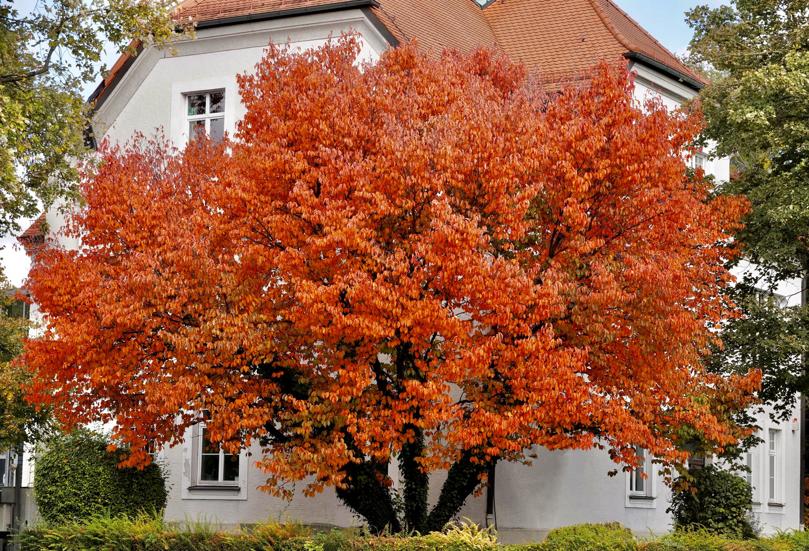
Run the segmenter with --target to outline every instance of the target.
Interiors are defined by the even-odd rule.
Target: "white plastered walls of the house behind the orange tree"
[[[125,142],[135,131],[152,134],[163,129],[176,146],[184,146],[188,137],[188,95],[224,91],[224,129],[233,132],[235,121],[244,114],[239,103],[235,75],[252,71],[270,40],[289,38],[294,48],[321,45],[329,36],[354,30],[362,36],[362,57],[379,58],[387,48],[379,28],[361,10],[336,11],[319,15],[301,15],[241,23],[227,27],[197,31],[197,40],[176,46],[178,54],[166,50],[146,49],[132,66],[118,78],[115,87],[97,112],[96,134],[113,142]],[[636,95],[659,93],[670,108],[676,108],[695,91],[659,70],[633,62],[637,71]],[[705,169],[718,180],[727,180],[727,159],[707,161]],[[55,210],[48,214],[51,228],[61,227],[62,219]],[[66,247],[77,243],[63,242]],[[797,412],[797,410],[796,410]],[[797,413],[796,413],[797,416]],[[766,532],[798,528],[800,495],[800,434],[792,423],[771,424],[761,420],[764,434],[775,430],[774,450],[769,444],[760,446],[752,456],[752,483],[756,488],[756,511]],[[225,524],[254,522],[268,516],[289,515],[305,523],[351,526],[358,519],[326,490],[315,498],[296,496],[292,502],[271,498],[256,490],[264,482],[252,458],[242,454],[239,480],[225,484],[222,480],[202,483],[200,480],[200,435],[189,430],[184,443],[163,451],[163,464],[171,486],[166,511],[167,520],[185,518],[217,519]],[[671,491],[662,477],[650,466],[650,474],[642,490],[630,485],[629,473],[619,472],[606,451],[536,450],[538,458],[528,467],[521,464],[498,464],[496,474],[496,523],[506,542],[540,540],[549,528],[574,523],[616,521],[638,534],[649,530],[660,533],[671,529],[666,513]],[[775,490],[769,495],[770,456],[775,456]],[[219,478],[222,478],[220,468]],[[432,497],[437,498],[445,473],[434,473]],[[485,523],[485,498],[469,498],[460,517]]]

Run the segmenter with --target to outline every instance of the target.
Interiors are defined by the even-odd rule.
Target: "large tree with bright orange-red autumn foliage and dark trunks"
[[[701,357],[747,203],[686,176],[698,113],[637,105],[606,62],[544,95],[487,50],[357,55],[270,46],[233,140],[102,147],[82,248],[28,281],[33,400],[115,421],[125,465],[204,417],[222,448],[260,445],[262,490],[332,487],[375,530],[442,528],[532,447],[671,468],[684,430],[745,434],[726,412],[758,375]]]

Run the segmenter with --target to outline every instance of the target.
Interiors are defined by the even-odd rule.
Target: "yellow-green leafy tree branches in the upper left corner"
[[[134,53],[187,30],[171,17],[174,3],[37,0],[21,14],[0,0],[0,234],[36,214],[37,198],[49,206],[75,195],[70,159],[83,154],[91,108],[81,86],[96,78],[106,42]]]

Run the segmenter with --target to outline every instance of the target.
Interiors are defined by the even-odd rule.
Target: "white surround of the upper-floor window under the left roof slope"
[[[225,132],[231,136],[235,132],[236,111],[239,108],[239,87],[235,75],[172,83],[172,115],[168,135],[175,147],[183,149],[188,143],[188,95],[212,91],[225,92],[225,112],[222,113],[225,116]]]

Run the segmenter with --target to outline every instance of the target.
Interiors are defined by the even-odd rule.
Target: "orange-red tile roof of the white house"
[[[684,66],[612,0],[493,0],[481,9],[473,0],[378,0],[371,9],[396,40],[417,38],[425,49],[469,50],[498,45],[547,82],[585,78],[600,59],[641,53],[697,83],[707,80]],[[184,0],[177,19],[201,23],[244,15],[307,8],[327,9],[335,0]],[[222,21],[227,23],[227,21]],[[97,99],[121,72],[129,55],[112,66],[91,96]]]

